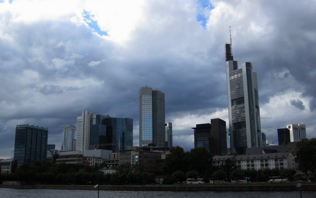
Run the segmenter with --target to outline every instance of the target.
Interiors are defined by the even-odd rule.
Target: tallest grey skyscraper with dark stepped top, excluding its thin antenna
[[[231,152],[245,153],[262,145],[257,73],[250,62],[238,68],[230,44],[225,54]]]

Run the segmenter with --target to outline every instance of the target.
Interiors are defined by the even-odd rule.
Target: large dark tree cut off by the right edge
[[[298,169],[305,172],[316,171],[316,138],[303,139],[296,143],[296,155],[298,162]],[[307,179],[307,178],[306,178]]]

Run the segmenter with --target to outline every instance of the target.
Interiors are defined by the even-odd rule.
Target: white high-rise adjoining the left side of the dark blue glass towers
[[[89,150],[90,125],[95,124],[95,119],[96,115],[88,110],[82,111],[82,116],[77,117],[76,151],[81,151],[83,155]]]

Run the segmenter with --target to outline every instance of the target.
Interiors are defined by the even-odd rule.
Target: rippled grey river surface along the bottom
[[[11,189],[0,188],[0,197],[15,198],[15,197],[45,197],[45,198],[76,198],[76,197],[98,197],[98,190],[59,190],[59,189]],[[283,191],[239,191],[239,192],[212,192],[212,191],[198,191],[198,192],[175,192],[175,191],[113,191],[113,190],[100,190],[99,197],[108,198],[169,198],[169,197],[184,197],[184,198],[204,198],[204,197],[256,197],[256,198],[299,198],[299,191],[283,192]],[[314,198],[316,192],[302,191],[303,198]]]

